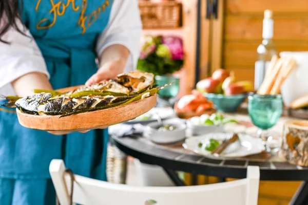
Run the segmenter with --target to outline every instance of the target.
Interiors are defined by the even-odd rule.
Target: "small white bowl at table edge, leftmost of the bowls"
[[[164,122],[163,124],[169,124],[177,128],[174,131],[159,131],[158,128],[162,125],[158,122],[152,122],[145,129],[146,137],[158,144],[174,143],[185,139],[186,125],[184,123]]]

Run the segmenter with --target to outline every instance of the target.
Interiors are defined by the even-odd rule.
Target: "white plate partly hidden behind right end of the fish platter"
[[[154,107],[151,110],[149,110],[147,113],[130,120],[128,122],[125,122],[126,124],[136,124],[136,123],[149,123],[149,122],[155,122],[157,121],[157,118],[155,115],[159,115],[162,120],[165,120],[167,118],[170,118],[175,115],[175,111],[172,108],[165,108],[165,107]],[[149,116],[148,120],[141,120],[143,116]]]

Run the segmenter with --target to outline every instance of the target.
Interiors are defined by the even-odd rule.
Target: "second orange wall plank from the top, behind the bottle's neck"
[[[225,40],[261,40],[262,19],[258,16],[226,16]],[[274,16],[274,40],[308,40],[308,16]]]

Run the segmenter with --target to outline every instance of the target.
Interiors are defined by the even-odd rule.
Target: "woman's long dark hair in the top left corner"
[[[17,27],[17,21],[22,21],[21,11],[23,9],[23,1],[21,5],[19,0],[0,0],[0,20],[6,17],[7,21],[0,27],[0,41],[9,44],[9,42],[4,41],[2,36],[13,27],[18,32],[24,34],[24,32]]]

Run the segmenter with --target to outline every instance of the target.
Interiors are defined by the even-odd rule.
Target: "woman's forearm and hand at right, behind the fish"
[[[117,78],[125,68],[128,55],[129,50],[123,45],[115,44],[107,47],[101,54],[99,70],[86,82],[86,85]]]

